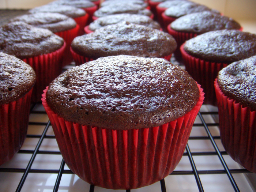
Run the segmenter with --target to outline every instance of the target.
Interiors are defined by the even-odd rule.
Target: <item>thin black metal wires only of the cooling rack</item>
[[[8,22],[10,18],[13,18],[14,16],[26,14],[27,10],[0,10],[0,25],[3,23]],[[175,61],[173,61],[175,63]],[[176,63],[178,64],[178,63]],[[30,114],[46,114],[44,110],[38,111],[35,110],[35,108],[38,105],[42,105],[41,103],[35,103],[34,105],[31,106]],[[227,167],[227,164],[225,160],[223,159],[223,155],[227,155],[225,151],[220,151],[215,140],[219,140],[219,136],[212,136],[211,132],[208,127],[210,126],[218,126],[218,123],[206,123],[204,120],[204,115],[213,115],[216,116],[218,115],[218,112],[199,112],[198,116],[201,120],[202,123],[195,123],[193,126],[196,127],[204,127],[204,129],[207,132],[207,136],[191,136],[189,137],[189,140],[210,140],[212,146],[214,147],[214,152],[212,151],[207,151],[207,152],[191,152],[189,145],[187,144],[184,156],[188,156],[192,170],[174,170],[170,175],[194,175],[196,184],[198,187],[199,192],[203,192],[203,185],[200,180],[200,176],[204,174],[226,174],[227,177],[229,178],[229,181],[234,189],[235,192],[239,192],[239,188],[236,184],[236,181],[234,180],[232,174],[242,174],[242,173],[251,173],[246,169],[229,169]],[[53,192],[57,192],[59,189],[61,177],[63,174],[74,174],[72,173],[71,170],[69,169],[64,169],[65,162],[62,159],[61,164],[59,169],[31,169],[34,159],[37,154],[47,154],[47,155],[60,155],[60,151],[48,151],[48,150],[39,150],[39,147],[41,146],[42,142],[44,139],[55,139],[54,135],[46,135],[46,132],[48,131],[48,128],[50,127],[50,122],[48,121],[47,123],[38,123],[38,122],[29,122],[29,125],[43,125],[44,131],[42,132],[41,135],[27,135],[27,138],[39,138],[39,141],[37,145],[35,146],[34,150],[20,150],[18,153],[20,154],[32,154],[29,163],[27,164],[27,167],[25,169],[20,169],[20,168],[0,168],[0,172],[5,172],[5,173],[23,173],[22,178],[20,179],[20,182],[18,184],[18,187],[16,189],[16,192],[20,192],[22,190],[23,184],[26,181],[27,175],[29,173],[37,173],[37,174],[44,174],[44,173],[50,173],[50,174],[57,174],[57,178],[55,181],[55,185],[53,188]],[[219,158],[219,161],[221,162],[223,169],[221,170],[197,170],[196,169],[196,164],[195,161],[193,160],[193,157],[195,156],[208,156],[208,155],[217,155]],[[165,187],[165,180],[162,179],[160,182],[161,190],[162,192],[166,192],[166,187]],[[125,191],[125,190],[124,190]],[[127,192],[132,191],[132,190],[126,190]],[[90,186],[89,192],[94,192],[94,186]]]

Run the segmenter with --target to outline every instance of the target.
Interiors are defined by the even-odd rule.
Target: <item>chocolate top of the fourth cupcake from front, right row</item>
[[[219,11],[213,10],[211,8],[206,7],[205,5],[200,5],[197,3],[194,3],[192,1],[171,1],[173,2],[173,5],[170,5],[167,10],[165,10],[165,15],[179,18],[183,15],[196,13],[196,12],[202,12],[202,11],[212,11],[215,14],[220,14]],[[178,3],[180,2],[180,3]]]

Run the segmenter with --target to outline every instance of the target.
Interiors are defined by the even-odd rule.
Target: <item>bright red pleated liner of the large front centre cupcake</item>
[[[65,121],[50,110],[42,95],[61,154],[82,180],[103,188],[133,189],[160,181],[180,161],[193,122],[203,103],[183,117],[159,127],[127,131],[90,127]]]

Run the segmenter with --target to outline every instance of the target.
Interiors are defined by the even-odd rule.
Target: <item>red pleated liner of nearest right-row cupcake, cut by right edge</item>
[[[256,173],[256,111],[227,97],[214,82],[221,142],[234,161]]]

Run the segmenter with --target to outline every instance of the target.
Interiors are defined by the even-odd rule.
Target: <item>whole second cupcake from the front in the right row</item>
[[[214,80],[234,61],[256,55],[256,34],[239,30],[210,31],[186,41],[180,48],[186,71],[205,92],[205,104],[217,105]]]

